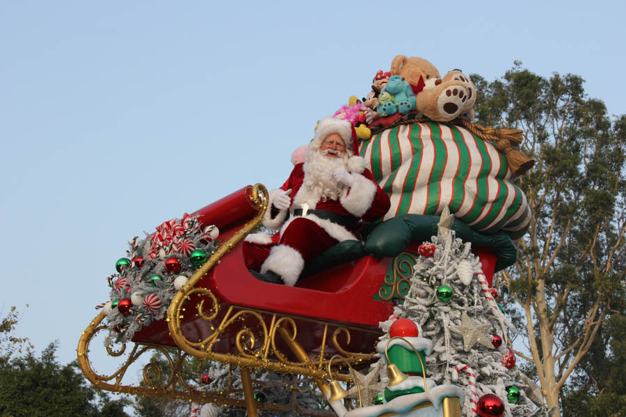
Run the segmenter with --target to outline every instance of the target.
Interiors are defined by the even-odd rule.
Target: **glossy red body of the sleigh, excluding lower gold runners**
[[[323,360],[323,356],[332,356],[335,353],[358,352],[360,359],[373,351],[373,347],[382,334],[378,328],[379,322],[388,320],[393,312],[393,298],[402,298],[403,292],[408,289],[408,277],[412,274],[410,264],[403,267],[403,277],[394,276],[398,265],[393,265],[392,258],[376,258],[362,256],[353,263],[344,263],[315,275],[302,278],[296,286],[282,286],[267,284],[253,277],[243,262],[241,240],[246,234],[241,232],[243,227],[255,217],[260,218],[262,202],[253,197],[251,186],[241,188],[223,199],[209,204],[192,213],[198,215],[202,226],[215,224],[220,229],[220,240],[223,242],[223,256],[203,275],[193,286],[202,288],[202,291],[186,296],[179,293],[168,313],[169,321],[154,322],[134,336],[134,341],[141,343],[157,343],[159,345],[186,345],[186,341],[205,341],[195,348],[185,349],[191,354],[206,351],[210,344],[215,354],[235,354],[241,347],[237,345],[242,329],[251,329],[258,325],[259,318],[239,317],[238,325],[223,326],[227,311],[249,310],[257,313],[270,323],[272,320],[289,320],[291,331],[296,333],[297,343],[313,360]],[[262,213],[261,213],[262,215]],[[239,234],[239,236],[237,236]],[[235,242],[233,243],[233,240]],[[422,242],[413,242],[406,248],[406,254],[417,254],[417,246]],[[496,256],[488,248],[475,250],[483,264],[483,272],[491,284]],[[398,263],[396,259],[396,263]],[[400,262],[401,263],[401,262]],[[407,270],[409,267],[410,270]],[[208,269],[208,268],[207,268]],[[405,291],[402,291],[402,286]],[[380,297],[381,288],[385,288],[388,297]],[[184,293],[185,288],[181,291]],[[206,291],[210,291],[207,299]],[[196,307],[202,303],[203,312]],[[387,300],[385,300],[385,298]],[[210,302],[214,302],[211,306]],[[186,304],[180,313],[175,312],[177,304]],[[191,308],[190,308],[191,307]],[[210,320],[211,309],[216,314]],[[222,327],[220,327],[220,323]],[[267,325],[267,327],[269,324]],[[211,334],[218,331],[218,336],[211,338]],[[266,330],[268,332],[269,330]],[[342,336],[342,333],[344,334]],[[238,336],[239,335],[239,336]],[[172,337],[173,336],[173,337]],[[293,335],[292,335],[293,336]],[[330,339],[333,338],[333,343]],[[341,340],[343,338],[343,340]],[[263,346],[264,338],[257,338],[255,346],[250,345],[250,352],[268,346]],[[321,340],[325,339],[325,340]],[[325,343],[326,341],[326,343]],[[284,347],[284,341],[273,340],[271,343]],[[293,347],[292,349],[293,350]],[[297,354],[287,350],[285,357],[297,358]],[[253,355],[252,355],[253,356]]]

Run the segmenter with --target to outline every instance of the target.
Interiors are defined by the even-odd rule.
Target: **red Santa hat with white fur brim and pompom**
[[[341,136],[346,144],[346,152],[350,156],[348,158],[348,171],[362,173],[365,168],[365,161],[358,156],[359,147],[356,132],[352,123],[348,120],[337,119],[337,117],[325,117],[317,122],[315,136],[309,144],[308,152],[318,152],[323,141],[332,133],[337,133]]]

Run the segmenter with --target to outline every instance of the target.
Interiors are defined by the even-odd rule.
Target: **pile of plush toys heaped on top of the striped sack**
[[[390,126],[409,114],[434,122],[457,117],[471,122],[475,102],[476,87],[460,70],[452,70],[442,78],[428,60],[399,55],[392,60],[390,72],[376,73],[367,97],[351,97],[334,116],[349,120],[357,136],[368,139],[369,128]]]

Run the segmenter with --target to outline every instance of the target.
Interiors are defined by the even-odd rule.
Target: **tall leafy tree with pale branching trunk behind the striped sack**
[[[517,182],[533,213],[529,233],[517,242],[515,267],[499,277],[526,329],[530,356],[517,353],[536,368],[547,405],[559,407],[594,347],[599,357],[621,354],[608,320],[620,320],[624,304],[626,116],[611,119],[572,74],[547,79],[516,62],[502,79],[472,79],[477,122],[522,129],[522,148],[537,160]]]

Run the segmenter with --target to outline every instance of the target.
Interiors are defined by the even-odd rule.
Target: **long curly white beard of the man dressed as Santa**
[[[332,178],[332,170],[348,167],[348,154],[344,152],[341,158],[324,156],[321,152],[307,152],[305,155],[304,181],[294,199],[294,203],[307,203],[314,206],[320,199],[339,199],[346,187],[339,185]],[[298,198],[300,197],[300,198]],[[314,201],[312,201],[314,200]]]

